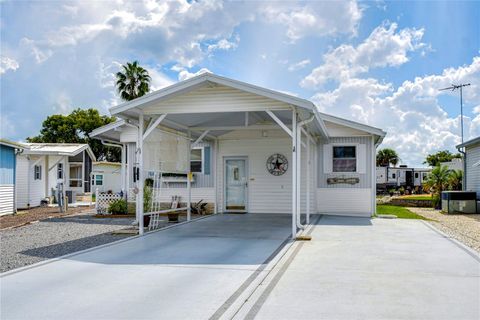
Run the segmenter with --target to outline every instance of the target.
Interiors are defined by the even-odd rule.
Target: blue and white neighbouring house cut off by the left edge
[[[0,139],[0,216],[13,214],[17,211],[15,205],[15,175],[17,153],[25,146]]]

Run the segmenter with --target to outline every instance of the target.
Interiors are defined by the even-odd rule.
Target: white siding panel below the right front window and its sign
[[[317,189],[319,213],[370,217],[372,190],[370,188]]]

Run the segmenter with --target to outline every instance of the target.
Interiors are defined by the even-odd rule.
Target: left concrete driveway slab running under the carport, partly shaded
[[[289,215],[218,215],[3,275],[2,319],[208,319],[290,236]],[[230,299],[230,300],[229,300]]]

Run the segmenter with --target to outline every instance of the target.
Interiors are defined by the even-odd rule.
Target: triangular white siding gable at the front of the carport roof
[[[216,85],[202,87],[144,109],[145,114],[255,111],[264,108],[290,110],[288,104],[238,89]]]

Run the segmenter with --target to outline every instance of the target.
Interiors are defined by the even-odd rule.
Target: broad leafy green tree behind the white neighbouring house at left
[[[28,137],[28,142],[43,143],[88,143],[98,160],[120,161],[118,148],[106,147],[99,140],[90,138],[90,133],[115,121],[114,117],[102,116],[96,109],[76,109],[69,115],[54,114],[43,121],[40,134]]]

